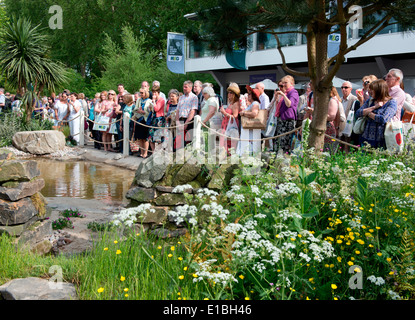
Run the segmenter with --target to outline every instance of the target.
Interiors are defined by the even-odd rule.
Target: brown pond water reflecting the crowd
[[[45,197],[95,199],[107,204],[125,202],[134,172],[84,161],[36,159],[45,180]]]

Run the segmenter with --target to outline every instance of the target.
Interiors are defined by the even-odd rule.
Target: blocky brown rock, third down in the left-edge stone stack
[[[23,224],[38,214],[31,198],[11,202],[0,199],[0,225],[14,226]]]

